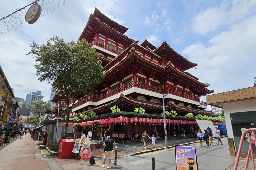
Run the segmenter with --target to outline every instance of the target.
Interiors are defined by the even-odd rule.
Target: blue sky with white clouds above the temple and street
[[[0,18],[29,3],[0,1]],[[37,80],[35,60],[26,55],[29,45],[33,41],[42,44],[52,35],[66,42],[77,41],[95,7],[128,27],[125,35],[138,44],[147,39],[158,47],[166,40],[175,51],[198,64],[187,71],[209,83],[213,94],[253,86],[256,1],[69,0],[62,4],[63,0],[59,8],[56,5],[34,24],[24,21],[23,28],[0,36],[0,65],[15,97],[26,98],[26,94],[40,90],[44,101],[50,99],[51,85]],[[205,96],[200,100],[206,101]]]

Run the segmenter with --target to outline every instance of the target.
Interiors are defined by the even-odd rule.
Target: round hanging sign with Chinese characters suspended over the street
[[[25,21],[29,24],[35,23],[41,15],[42,8],[37,3],[33,4],[25,15]]]

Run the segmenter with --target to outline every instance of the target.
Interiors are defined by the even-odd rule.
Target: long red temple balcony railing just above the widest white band
[[[173,89],[167,89],[167,91],[165,92],[164,89],[159,88],[159,87],[155,87],[155,86],[151,86],[150,84],[142,83],[142,82],[139,82],[139,81],[131,81],[131,82],[126,83],[126,84],[122,85],[121,87],[118,87],[118,88],[116,88],[116,89],[114,89],[114,90],[112,90],[108,93],[104,93],[104,94],[101,93],[99,97],[92,97],[92,96],[88,95],[85,98],[83,98],[81,101],[79,101],[78,103],[74,104],[74,106],[72,108],[74,109],[78,106],[81,106],[84,103],[87,103],[87,102],[98,102],[98,101],[104,100],[104,99],[106,99],[110,96],[113,96],[115,94],[120,94],[121,92],[123,92],[127,89],[130,89],[130,88],[133,88],[133,87],[137,87],[137,88],[140,88],[140,89],[145,89],[145,90],[156,92],[156,93],[159,93],[159,94],[164,94],[164,93],[173,94],[173,95],[185,98],[185,99],[200,102],[200,105],[204,105],[204,106],[206,106],[206,104],[207,104],[206,102],[200,101],[198,96],[185,94],[185,93],[179,92],[177,90],[173,90]]]

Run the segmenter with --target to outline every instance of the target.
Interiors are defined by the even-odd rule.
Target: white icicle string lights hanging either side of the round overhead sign
[[[55,6],[56,6],[55,1],[57,0],[36,0],[24,6],[23,8],[16,9],[16,11],[13,12],[12,14],[6,17],[3,17],[2,19],[0,19],[0,36],[23,28],[22,25],[25,20],[27,7],[29,8],[30,5],[38,3],[38,5],[40,5],[42,8],[41,15],[47,15],[48,12],[55,11]],[[63,5],[65,5],[65,1],[67,0],[63,0]],[[58,9],[59,9],[59,4],[60,4],[60,0],[58,0],[58,5],[57,5]],[[41,17],[39,17],[39,19],[40,18]]]

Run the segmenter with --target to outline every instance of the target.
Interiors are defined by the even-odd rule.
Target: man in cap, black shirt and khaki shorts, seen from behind
[[[103,165],[101,166],[102,168],[105,168],[105,162],[106,159],[109,158],[109,164],[108,164],[108,169],[111,168],[110,163],[111,163],[111,159],[113,159],[113,146],[115,146],[116,143],[114,141],[114,139],[111,139],[110,136],[106,137],[106,140],[103,143],[104,148],[104,158],[103,158]]]

